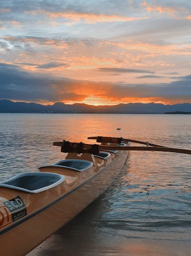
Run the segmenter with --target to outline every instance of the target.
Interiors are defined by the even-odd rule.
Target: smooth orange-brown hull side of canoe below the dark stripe
[[[27,218],[15,222],[14,228],[0,235],[0,252],[6,256],[25,255],[100,196],[122,169],[126,153],[90,177],[80,186],[46,205]],[[8,228],[7,228],[8,229]]]

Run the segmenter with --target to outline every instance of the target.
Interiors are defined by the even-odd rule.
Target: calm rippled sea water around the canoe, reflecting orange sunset
[[[190,115],[1,113],[0,180],[63,158],[53,141],[105,135],[191,149],[190,131]],[[190,178],[190,155],[130,152],[106,192],[28,256],[191,255]]]

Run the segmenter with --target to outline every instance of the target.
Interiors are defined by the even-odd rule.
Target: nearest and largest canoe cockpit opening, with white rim
[[[55,173],[22,173],[0,182],[0,187],[38,193],[53,188],[65,180],[64,176]]]

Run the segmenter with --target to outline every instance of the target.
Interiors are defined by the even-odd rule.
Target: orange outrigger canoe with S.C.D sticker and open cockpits
[[[97,142],[115,149],[54,143],[68,153],[64,160],[0,183],[0,255],[27,254],[106,190],[128,153],[117,149],[130,143],[105,137]]]

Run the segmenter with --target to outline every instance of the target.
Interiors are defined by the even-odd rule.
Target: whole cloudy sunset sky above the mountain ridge
[[[0,99],[191,103],[191,2],[0,0]]]

